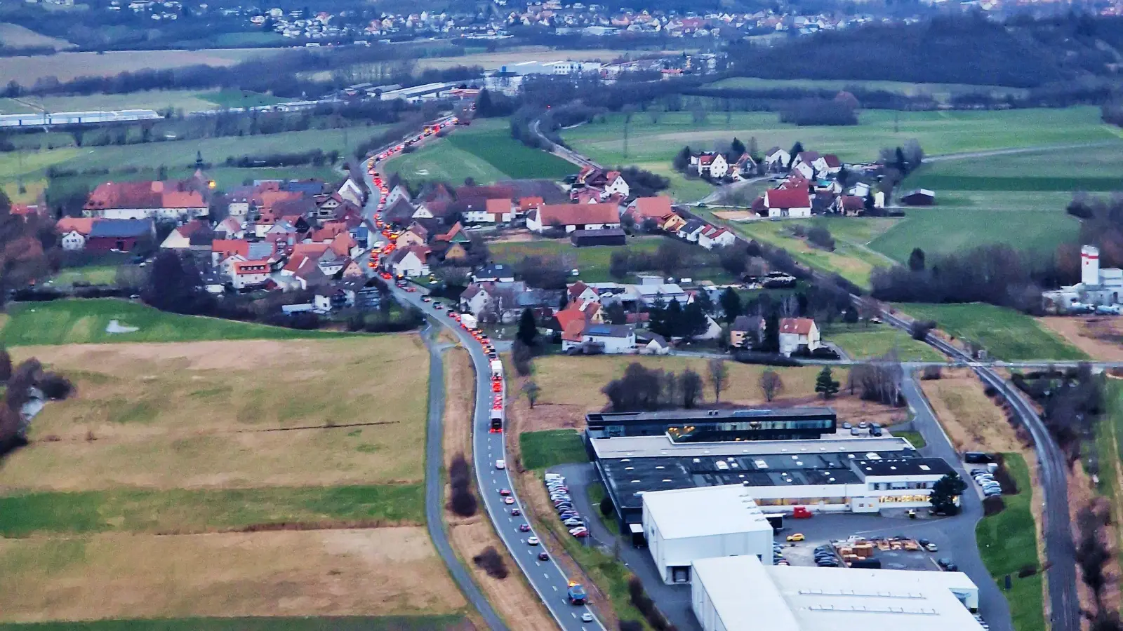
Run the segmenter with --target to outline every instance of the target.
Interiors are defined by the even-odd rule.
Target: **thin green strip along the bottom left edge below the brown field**
[[[465,622],[462,615],[181,618],[0,623],[0,631],[445,631]]]

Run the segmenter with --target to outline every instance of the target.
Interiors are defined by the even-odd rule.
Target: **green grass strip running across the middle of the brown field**
[[[184,534],[325,521],[424,523],[423,485],[115,488],[0,496],[0,537],[7,538],[109,531]]]

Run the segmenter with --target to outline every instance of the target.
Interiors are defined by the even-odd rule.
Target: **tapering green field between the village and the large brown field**
[[[344,333],[300,331],[217,318],[164,313],[116,299],[56,300],[19,303],[8,310],[0,329],[4,346],[39,344],[104,344],[119,341],[198,341],[212,339],[327,338]],[[107,333],[110,320],[139,327],[131,333]]]

